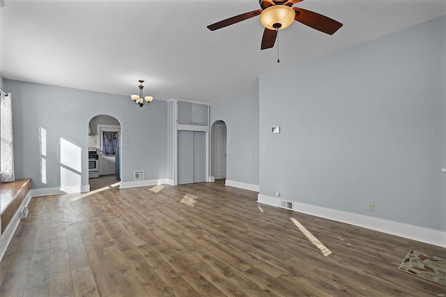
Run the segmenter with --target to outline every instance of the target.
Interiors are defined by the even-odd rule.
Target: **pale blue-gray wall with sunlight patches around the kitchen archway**
[[[167,103],[154,100],[138,107],[130,97],[58,86],[31,84],[4,79],[13,93],[13,125],[16,178],[32,178],[32,188],[59,188],[61,172],[69,172],[88,185],[89,121],[107,114],[121,123],[122,180],[133,181],[135,170],[144,170],[146,179],[167,178]],[[46,130],[46,155],[41,154],[40,128]],[[129,137],[126,142],[125,137]],[[65,139],[65,140],[61,140]],[[72,151],[62,152],[61,142]],[[66,146],[64,146],[66,147]],[[66,154],[75,158],[82,152],[81,165],[62,164]],[[41,178],[41,160],[46,160],[47,181]],[[62,158],[62,161],[61,161]]]

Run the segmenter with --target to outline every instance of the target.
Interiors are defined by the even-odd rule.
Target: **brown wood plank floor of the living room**
[[[446,249],[256,199],[221,182],[35,197],[0,264],[0,296],[446,294],[398,271],[410,249]]]

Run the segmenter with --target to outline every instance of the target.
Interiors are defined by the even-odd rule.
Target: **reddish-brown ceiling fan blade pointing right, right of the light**
[[[340,22],[330,19],[330,17],[325,17],[325,15],[319,15],[313,11],[298,7],[293,7],[293,9],[295,10],[294,20],[307,26],[311,26],[313,29],[323,33],[332,35],[342,26]]]

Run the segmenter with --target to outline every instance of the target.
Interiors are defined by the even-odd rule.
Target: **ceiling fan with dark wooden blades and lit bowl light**
[[[298,7],[291,8],[293,4],[300,1],[303,0],[259,0],[261,9],[249,11],[249,13],[242,13],[241,15],[216,22],[215,24],[210,24],[208,29],[210,31],[222,29],[225,26],[260,15],[260,21],[265,26],[260,48],[261,50],[265,50],[274,46],[277,31],[291,25],[293,20],[330,35],[341,28],[342,24],[330,19],[330,17],[325,17],[325,15],[320,15]]]

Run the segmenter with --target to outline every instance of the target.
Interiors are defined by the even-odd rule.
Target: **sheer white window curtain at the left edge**
[[[14,181],[13,101],[12,96],[0,95],[1,181]]]

